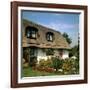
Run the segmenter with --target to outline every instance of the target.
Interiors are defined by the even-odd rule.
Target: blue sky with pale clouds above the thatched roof
[[[78,44],[79,14],[77,13],[56,13],[22,11],[22,19],[33,21],[37,24],[55,29],[62,34],[66,32],[72,39],[71,47]]]

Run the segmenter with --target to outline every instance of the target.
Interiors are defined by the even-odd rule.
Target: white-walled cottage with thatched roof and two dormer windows
[[[39,61],[51,56],[57,56],[62,59],[68,58],[70,46],[60,32],[32,21],[23,20],[22,48],[23,58],[25,53],[27,53],[27,58],[34,56]]]

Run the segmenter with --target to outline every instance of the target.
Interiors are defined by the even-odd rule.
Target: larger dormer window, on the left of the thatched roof
[[[26,37],[31,39],[37,38],[37,29],[35,27],[26,27]]]

